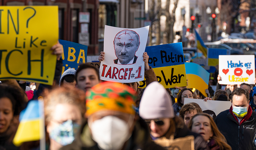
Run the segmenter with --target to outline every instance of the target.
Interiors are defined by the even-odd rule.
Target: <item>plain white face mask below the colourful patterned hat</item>
[[[89,127],[93,140],[104,150],[119,150],[131,137],[128,123],[111,115],[95,120]]]

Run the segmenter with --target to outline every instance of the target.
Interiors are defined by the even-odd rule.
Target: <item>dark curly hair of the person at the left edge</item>
[[[27,104],[26,93],[21,89],[7,84],[0,84],[0,99],[8,98],[12,102],[13,115],[19,115]]]

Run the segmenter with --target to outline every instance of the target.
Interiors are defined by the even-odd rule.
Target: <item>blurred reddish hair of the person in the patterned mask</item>
[[[61,87],[51,92],[46,92],[44,98],[44,115],[45,123],[49,123],[52,118],[52,113],[58,104],[71,104],[77,106],[82,116],[85,114],[85,93],[76,88]]]

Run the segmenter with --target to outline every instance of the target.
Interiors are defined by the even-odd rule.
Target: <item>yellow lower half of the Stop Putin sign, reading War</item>
[[[174,88],[175,86],[186,86],[187,77],[185,64],[153,68],[157,81],[161,83],[164,88]],[[146,79],[140,81],[140,88],[146,87]]]

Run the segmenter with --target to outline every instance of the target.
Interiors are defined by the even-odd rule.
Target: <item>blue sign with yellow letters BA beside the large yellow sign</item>
[[[86,45],[69,42],[65,40],[59,40],[63,46],[62,58],[62,73],[69,68],[77,69],[79,64],[85,63],[87,58]]]

